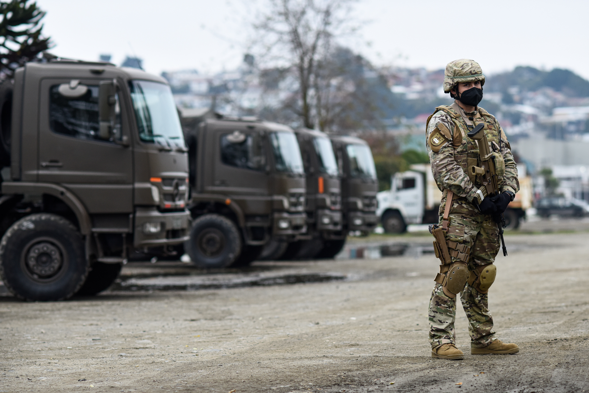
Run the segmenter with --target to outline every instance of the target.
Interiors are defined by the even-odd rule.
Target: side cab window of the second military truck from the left
[[[239,131],[221,135],[221,161],[238,168],[266,170],[262,136],[243,134]]]

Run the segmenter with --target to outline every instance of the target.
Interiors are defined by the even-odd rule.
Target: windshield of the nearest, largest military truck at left
[[[168,85],[130,81],[131,99],[139,137],[146,142],[184,146],[184,136],[172,91]]]

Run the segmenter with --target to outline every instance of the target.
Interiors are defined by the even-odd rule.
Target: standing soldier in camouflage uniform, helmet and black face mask
[[[444,92],[450,93],[454,103],[437,107],[426,126],[432,174],[443,192],[439,210],[442,239],[451,257],[451,263],[441,265],[429,302],[432,358],[464,357],[455,345],[458,293],[468,317],[471,354],[519,351],[516,344],[505,344],[495,337],[488,309],[487,294],[497,271],[493,262],[499,251],[499,229],[493,215],[505,211],[519,190],[519,182],[505,133],[493,115],[478,107],[484,83],[485,75],[475,61],[461,59],[446,65]],[[481,177],[467,170],[480,166],[477,141],[466,134],[481,122],[491,150],[498,151],[504,160],[505,173],[498,178],[501,193],[494,197],[485,197],[479,190]]]

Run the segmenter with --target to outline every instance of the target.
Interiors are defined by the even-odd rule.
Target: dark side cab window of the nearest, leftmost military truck
[[[86,93],[80,97],[67,97],[59,93],[60,85],[49,89],[49,127],[57,134],[80,139],[102,140],[99,136],[98,85],[87,85]],[[121,108],[118,94],[115,95],[117,121],[114,138],[121,137]]]

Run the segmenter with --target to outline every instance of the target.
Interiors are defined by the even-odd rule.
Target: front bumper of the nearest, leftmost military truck
[[[150,233],[159,227],[158,232]],[[138,247],[174,246],[190,238],[190,212],[158,212],[155,207],[140,207],[135,212],[135,237]]]

